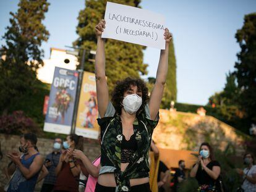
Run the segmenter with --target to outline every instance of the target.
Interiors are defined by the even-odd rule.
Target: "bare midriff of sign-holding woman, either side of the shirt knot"
[[[132,178],[130,179],[130,186],[142,185],[144,183],[148,183],[149,178]],[[103,186],[114,186],[116,187],[116,180],[114,179],[114,173],[105,173],[99,175],[98,183]]]

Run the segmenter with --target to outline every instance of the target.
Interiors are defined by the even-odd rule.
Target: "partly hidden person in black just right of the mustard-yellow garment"
[[[157,185],[158,185],[158,191],[163,192],[164,191],[164,184],[168,182],[169,178],[169,169],[166,167],[163,161],[159,162],[158,167],[158,177],[157,177]]]

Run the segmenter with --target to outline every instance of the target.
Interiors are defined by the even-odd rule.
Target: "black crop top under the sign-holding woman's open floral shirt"
[[[135,135],[130,136],[130,140],[126,140],[126,136],[123,136],[121,143],[121,163],[131,162],[134,153],[137,150],[137,142],[135,140]]]

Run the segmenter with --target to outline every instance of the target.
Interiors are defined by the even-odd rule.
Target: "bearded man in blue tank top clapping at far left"
[[[43,156],[36,150],[37,138],[34,133],[26,133],[20,138],[20,151],[9,152],[7,157],[16,165],[14,175],[12,176],[7,191],[34,191],[36,180],[40,170],[43,167]]]

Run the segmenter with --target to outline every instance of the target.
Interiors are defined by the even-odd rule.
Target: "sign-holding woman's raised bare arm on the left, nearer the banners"
[[[95,27],[95,34],[97,36],[97,49],[95,56],[95,78],[96,78],[96,91],[98,101],[98,111],[100,117],[104,117],[108,107],[108,85],[106,82],[105,72],[105,42],[101,38],[101,34],[105,28],[105,20],[101,20]]]

